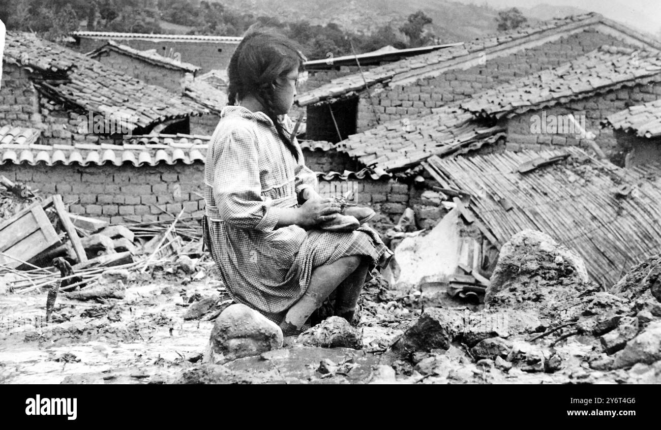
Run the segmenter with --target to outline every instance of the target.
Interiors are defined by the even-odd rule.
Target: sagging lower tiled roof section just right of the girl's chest
[[[473,114],[463,112],[458,103],[436,109],[434,114],[393,120],[338,142],[344,151],[366,166],[378,170],[405,168],[430,155],[450,154],[485,139],[498,137],[500,127],[482,125]]]

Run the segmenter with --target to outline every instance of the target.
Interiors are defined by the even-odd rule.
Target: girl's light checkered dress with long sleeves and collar
[[[361,255],[370,270],[393,253],[363,225],[349,233],[275,229],[280,209],[297,205],[297,192],[317,188],[317,176],[296,162],[263,112],[225,106],[208,147],[204,173],[208,245],[231,297],[280,322],[305,293],[312,269]],[[286,130],[292,120],[284,115]],[[369,275],[368,275],[369,278]]]

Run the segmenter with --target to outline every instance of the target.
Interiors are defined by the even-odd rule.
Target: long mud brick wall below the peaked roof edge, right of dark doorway
[[[466,70],[447,71],[407,85],[374,87],[371,90],[374,107],[366,92],[360,96],[358,131],[376,125],[376,118],[383,123],[431,114],[433,108],[543,69],[557,67],[604,44],[634,48],[613,36],[588,29],[512,55],[495,58],[487,55],[484,65]]]

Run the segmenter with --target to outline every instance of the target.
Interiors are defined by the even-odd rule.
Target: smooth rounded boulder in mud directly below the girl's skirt
[[[216,318],[205,361],[221,363],[282,347],[282,330],[246,305],[227,306]]]

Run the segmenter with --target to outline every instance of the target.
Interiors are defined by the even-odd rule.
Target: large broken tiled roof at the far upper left
[[[43,79],[33,83],[49,96],[102,114],[107,120],[121,120],[129,129],[208,112],[192,100],[33,34],[7,32],[4,59],[41,73]]]

